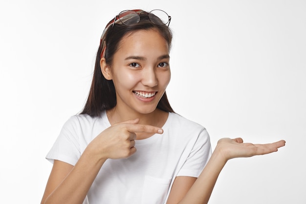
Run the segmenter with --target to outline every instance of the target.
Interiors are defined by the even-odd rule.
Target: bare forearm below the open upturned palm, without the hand
[[[207,204],[226,159],[215,150],[200,176],[179,204]]]

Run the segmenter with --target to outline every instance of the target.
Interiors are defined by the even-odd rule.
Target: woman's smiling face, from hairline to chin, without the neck
[[[170,82],[169,60],[169,45],[158,31],[139,30],[125,36],[109,68],[116,108],[152,113]]]

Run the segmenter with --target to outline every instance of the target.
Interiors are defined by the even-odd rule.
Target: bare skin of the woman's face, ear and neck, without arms
[[[155,30],[140,30],[125,36],[112,67],[101,59],[101,71],[106,79],[113,81],[116,90],[117,105],[107,112],[110,124],[139,118],[139,124],[163,126],[168,113],[156,106],[170,82],[169,60],[169,45]],[[139,97],[135,91],[154,96]],[[138,133],[137,139],[151,135]]]

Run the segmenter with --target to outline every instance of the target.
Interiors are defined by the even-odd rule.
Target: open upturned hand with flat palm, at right
[[[233,158],[252,157],[255,155],[265,155],[277,152],[278,148],[283,147],[284,145],[284,140],[269,144],[252,144],[243,143],[243,140],[240,137],[235,139],[221,138],[218,141],[216,150],[223,155],[224,159],[229,160]]]

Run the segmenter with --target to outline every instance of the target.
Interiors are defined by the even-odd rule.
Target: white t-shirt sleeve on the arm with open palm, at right
[[[211,143],[206,129],[197,136],[193,148],[176,176],[198,177],[212,155]]]

